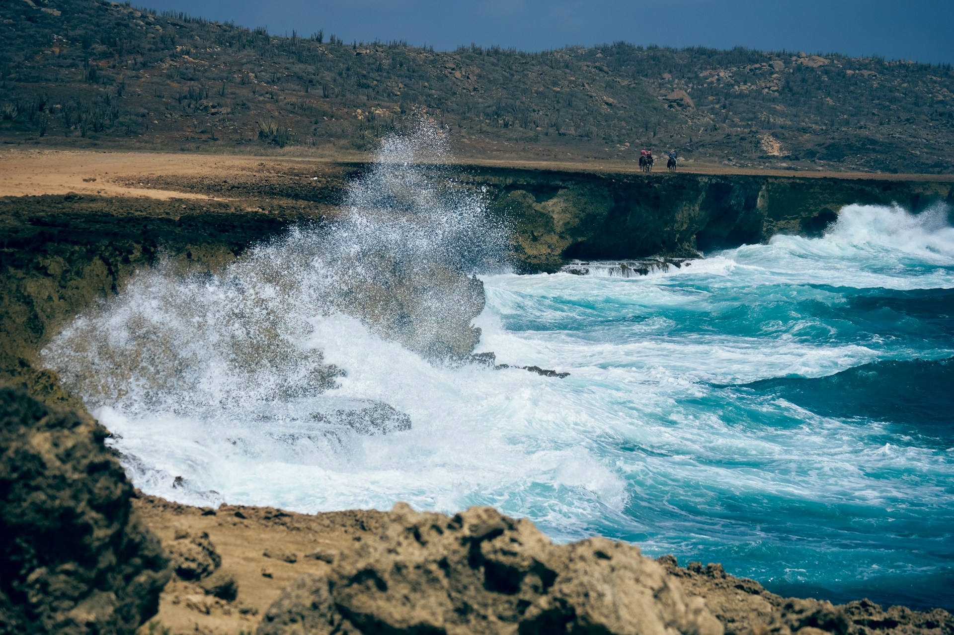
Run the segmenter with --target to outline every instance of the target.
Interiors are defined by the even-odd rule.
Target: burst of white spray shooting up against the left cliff
[[[378,432],[406,427],[385,404],[322,396],[349,369],[314,333],[346,314],[428,360],[467,358],[485,302],[474,274],[501,269],[508,228],[479,191],[442,177],[447,159],[426,123],[386,139],[335,222],[254,245],[218,274],[169,259],[140,271],[54,338],[44,363],[91,410],[127,417],[326,422],[370,409]]]

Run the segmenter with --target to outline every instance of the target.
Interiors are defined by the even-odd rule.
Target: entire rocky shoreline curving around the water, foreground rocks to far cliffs
[[[333,221],[342,184],[363,167],[302,165],[259,163],[264,180],[135,180],[183,199],[0,198],[0,385],[16,389],[0,391],[0,569],[14,572],[0,577],[0,633],[133,632],[143,622],[142,633],[954,633],[941,609],[784,599],[717,564],[651,561],[610,540],[552,545],[529,521],[489,508],[303,515],[135,492],[104,445],[108,432],[43,369],[39,350],[137,269],[165,259],[219,271],[289,225]],[[443,169],[483,188],[512,223],[511,257],[526,271],[641,275],[691,266],[705,244],[817,233],[847,202],[920,208],[954,197],[947,181]],[[321,170],[316,185],[307,175]],[[235,198],[210,198],[226,182]],[[591,262],[611,257],[616,265]],[[463,283],[473,296],[463,310],[479,312],[479,281],[459,273],[446,284]],[[373,295],[367,307],[378,306]],[[460,345],[442,340],[458,356],[477,337],[467,315],[460,322],[451,329]]]

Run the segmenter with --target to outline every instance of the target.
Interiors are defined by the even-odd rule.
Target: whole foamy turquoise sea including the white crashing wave
[[[480,219],[467,212],[479,202],[447,203],[418,185],[418,200],[432,201],[426,209]],[[393,194],[401,191],[359,193],[351,204],[408,209]],[[310,251],[301,236],[263,247],[270,268],[252,260],[212,280],[146,274],[81,317],[45,359],[67,377],[93,359],[107,374],[126,364],[118,384],[76,387],[119,435],[116,448],[149,493],[305,512],[489,504],[557,540],[633,540],[654,555],[723,562],[787,593],[950,607],[947,214],[853,205],[823,238],[777,237],[644,277],[485,275],[479,349],[502,363],[569,370],[563,380],[437,363],[361,315],[329,308],[328,287],[315,280],[337,279],[343,261],[321,251],[325,236],[309,236],[319,245]],[[437,260],[464,266],[472,250],[460,247],[474,243],[467,227],[479,223],[461,232],[462,222],[447,225],[460,242],[425,241],[402,257],[415,263],[434,244]],[[382,240],[394,251],[400,239]],[[362,255],[360,241],[339,244]],[[286,256],[303,264],[278,265]],[[259,333],[269,320],[277,339],[263,350],[278,342],[294,352],[237,361],[235,343],[271,336]],[[186,328],[197,336],[183,337]],[[143,329],[159,344],[136,339]],[[135,346],[124,348],[127,340]],[[140,349],[171,355],[176,371],[143,378],[152,361],[122,361]],[[333,377],[337,388],[282,392],[328,368],[346,373]],[[305,413],[327,399],[384,402],[412,427],[312,434]]]

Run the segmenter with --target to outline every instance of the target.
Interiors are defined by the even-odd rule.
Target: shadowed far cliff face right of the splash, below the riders
[[[819,235],[851,203],[913,210],[954,201],[945,181],[848,180],[674,174],[597,174],[467,167],[460,178],[488,187],[515,229],[524,270],[551,271],[565,258],[623,259]]]

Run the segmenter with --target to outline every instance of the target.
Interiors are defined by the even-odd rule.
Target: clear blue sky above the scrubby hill
[[[954,0],[139,0],[273,33],[527,51],[616,40],[954,63]]]

